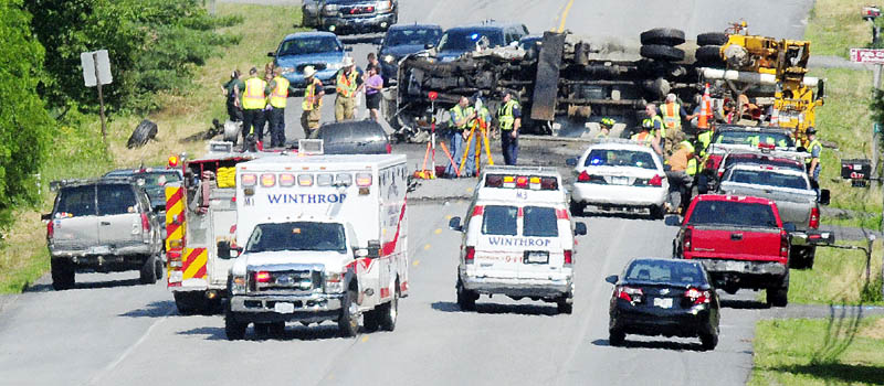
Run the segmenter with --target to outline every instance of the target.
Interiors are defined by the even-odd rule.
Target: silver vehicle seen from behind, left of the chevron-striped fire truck
[[[162,240],[147,193],[129,179],[53,182],[48,221],[52,287],[74,287],[77,271],[140,270],[143,283],[162,278]]]

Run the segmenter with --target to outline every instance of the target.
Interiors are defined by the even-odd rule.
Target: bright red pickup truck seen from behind
[[[766,289],[768,304],[788,303],[789,233],[774,201],[698,195],[681,226],[673,255],[702,261],[716,287]]]

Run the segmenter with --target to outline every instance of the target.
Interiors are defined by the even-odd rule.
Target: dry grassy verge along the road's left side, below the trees
[[[252,66],[263,71],[266,53],[282,39],[295,32],[293,24],[301,20],[298,7],[218,4],[219,15],[238,14],[243,22],[221,29],[220,33],[242,36],[240,44],[221,51],[194,72],[194,87],[182,96],[162,95],[166,108],[148,119],[159,127],[156,141],[140,149],[126,149],[131,130],[143,119],[136,116],[110,116],[107,126],[107,152],[101,143],[101,121],[96,116],[78,117],[76,127],[60,127],[60,140],[52,149],[42,170],[44,203],[36,210],[22,210],[17,222],[4,235],[0,249],[0,293],[21,292],[28,285],[49,271],[45,226],[40,213],[48,212],[54,195],[46,189],[49,181],[65,178],[101,175],[114,168],[164,164],[171,154],[204,152],[201,133],[212,118],[227,116],[220,85],[233,68],[248,72]],[[259,25],[260,28],[254,28]]]

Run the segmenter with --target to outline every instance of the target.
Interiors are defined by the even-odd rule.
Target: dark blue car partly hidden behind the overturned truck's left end
[[[399,60],[439,44],[442,28],[436,24],[397,24],[387,30],[378,50],[381,76],[386,85],[396,83]]]

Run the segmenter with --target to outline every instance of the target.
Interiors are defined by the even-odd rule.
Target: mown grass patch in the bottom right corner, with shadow
[[[884,384],[884,318],[768,320],[755,335],[751,386]]]

